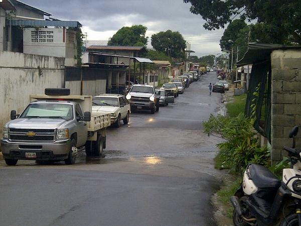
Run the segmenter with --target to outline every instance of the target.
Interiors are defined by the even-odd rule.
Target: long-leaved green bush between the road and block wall
[[[258,146],[253,125],[254,119],[247,118],[242,113],[237,117],[211,115],[204,122],[206,133],[216,134],[225,140],[217,145],[220,150],[217,165],[220,168],[241,174],[249,163],[267,165],[269,150],[266,146]]]

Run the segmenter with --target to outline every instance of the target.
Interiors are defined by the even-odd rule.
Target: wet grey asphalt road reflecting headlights
[[[36,165],[0,160],[0,225],[216,225],[210,196],[217,138],[202,122],[222,107],[215,72],[155,115],[137,112],[107,130],[105,158]]]

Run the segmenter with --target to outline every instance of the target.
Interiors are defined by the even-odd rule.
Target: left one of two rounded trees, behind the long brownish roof
[[[146,46],[148,37],[145,37],[147,28],[142,25],[122,27],[108,41],[109,46]]]

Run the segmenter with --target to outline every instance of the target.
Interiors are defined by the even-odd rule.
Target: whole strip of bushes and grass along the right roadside
[[[271,166],[270,151],[268,147],[259,147],[256,131],[253,128],[254,114],[256,112],[256,99],[253,100],[252,116],[244,115],[246,95],[235,96],[233,101],[226,104],[227,116],[211,115],[207,122],[204,122],[206,133],[223,139],[218,144],[219,152],[215,158],[217,169],[227,169],[232,175],[226,179],[222,188],[217,192],[219,200],[224,203],[224,214],[232,217],[233,208],[229,200],[239,188],[242,173],[249,163],[255,163],[268,167],[277,176],[287,166],[287,159],[279,164]]]

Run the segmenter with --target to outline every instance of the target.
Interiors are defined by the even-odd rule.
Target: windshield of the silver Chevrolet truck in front
[[[20,118],[73,119],[71,104],[32,103],[28,105]]]

